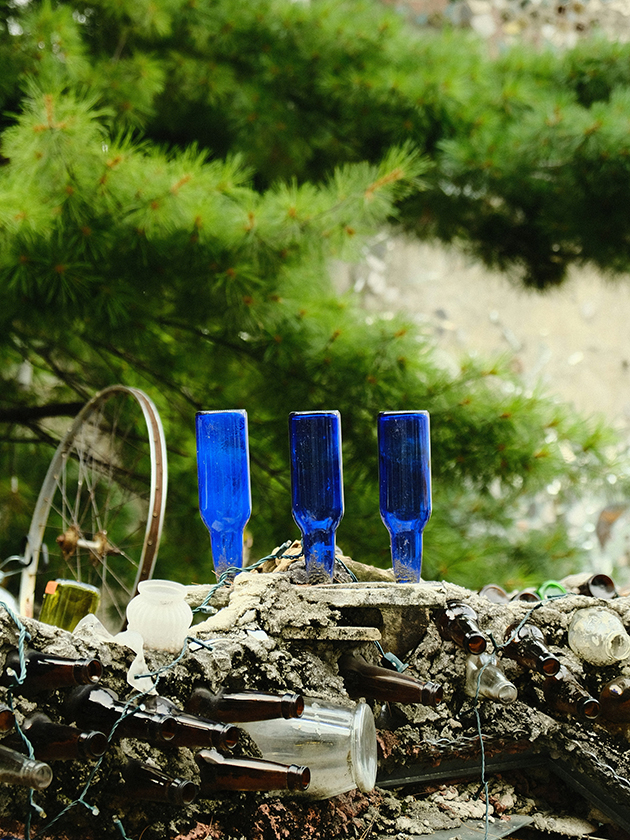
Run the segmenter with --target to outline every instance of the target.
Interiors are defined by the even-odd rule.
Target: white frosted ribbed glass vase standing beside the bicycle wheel
[[[192,624],[184,600],[186,587],[172,580],[143,580],[127,605],[127,629],[142,636],[144,647],[179,653]]]

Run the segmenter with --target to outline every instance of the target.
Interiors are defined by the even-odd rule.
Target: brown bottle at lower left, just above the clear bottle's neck
[[[39,761],[92,761],[104,755],[108,746],[103,732],[82,732],[74,726],[53,723],[43,712],[27,717],[22,729]],[[11,746],[13,744],[20,749],[17,738],[13,738]]]

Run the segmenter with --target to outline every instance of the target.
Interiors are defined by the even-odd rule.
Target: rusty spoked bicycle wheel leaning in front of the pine
[[[153,402],[124,385],[98,393],[73,421],[42,484],[20,581],[22,615],[33,617],[47,580],[72,578],[100,589],[97,615],[119,630],[138,583],[153,574],[166,485],[164,431]]]

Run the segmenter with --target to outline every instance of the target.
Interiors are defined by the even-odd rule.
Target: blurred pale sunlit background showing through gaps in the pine
[[[580,40],[630,40],[628,0],[382,0],[413,26],[461,28],[484,39],[498,55],[525,44],[562,52]],[[560,289],[525,290],[457,248],[384,234],[364,254],[362,266],[340,267],[337,282],[365,309],[389,318],[413,313],[456,368],[462,354],[506,356],[531,388],[602,415],[620,433],[620,454],[630,446],[630,275],[571,268]],[[368,315],[368,317],[370,317]],[[630,515],[625,491],[595,493],[578,503],[558,503],[557,483],[541,493],[520,527],[539,528],[565,518],[586,551],[586,568],[616,574],[630,585]],[[617,495],[617,500],[611,501]]]

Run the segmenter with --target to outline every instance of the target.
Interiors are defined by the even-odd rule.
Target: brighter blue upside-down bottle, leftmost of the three
[[[199,509],[210,531],[217,577],[243,567],[243,531],[252,512],[246,411],[199,411]]]

